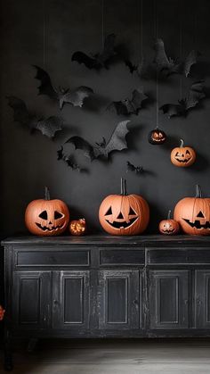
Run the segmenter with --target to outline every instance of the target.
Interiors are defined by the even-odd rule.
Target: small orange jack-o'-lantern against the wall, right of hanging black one
[[[172,150],[171,162],[175,166],[181,168],[187,168],[196,161],[196,153],[190,146],[184,146],[183,140],[181,139],[181,145]]]

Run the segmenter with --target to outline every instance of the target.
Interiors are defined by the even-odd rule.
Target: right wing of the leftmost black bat
[[[61,131],[63,121],[61,117],[48,117],[46,120],[37,122],[36,129],[42,132],[46,137],[54,137],[57,131]]]

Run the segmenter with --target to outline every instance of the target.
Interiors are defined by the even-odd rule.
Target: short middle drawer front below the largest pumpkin
[[[100,249],[100,265],[144,265],[144,249]]]

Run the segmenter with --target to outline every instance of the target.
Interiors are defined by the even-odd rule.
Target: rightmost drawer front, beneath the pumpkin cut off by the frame
[[[148,264],[209,264],[210,248],[147,248]]]

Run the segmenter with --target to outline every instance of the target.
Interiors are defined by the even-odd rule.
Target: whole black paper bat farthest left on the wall
[[[13,119],[28,129],[38,129],[46,137],[54,137],[57,131],[61,131],[63,120],[61,117],[51,116],[46,119],[28,112],[23,100],[15,96],[7,96],[8,104],[13,109]]]

